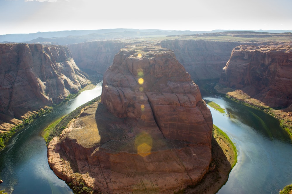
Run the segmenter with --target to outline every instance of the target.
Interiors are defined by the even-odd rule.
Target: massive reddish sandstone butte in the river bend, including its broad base
[[[96,193],[173,193],[208,171],[212,125],[173,51],[132,45],[105,72],[101,102],[49,143],[48,163],[67,183],[81,176]]]

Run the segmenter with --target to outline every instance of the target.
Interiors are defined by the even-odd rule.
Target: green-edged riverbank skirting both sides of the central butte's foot
[[[93,102],[98,100],[100,99],[94,99]],[[54,134],[48,136],[46,142],[48,143],[52,137],[60,134],[69,121],[80,114],[84,109],[83,106],[75,109],[62,120],[53,122],[51,126],[48,126],[47,131],[51,131],[51,133]],[[197,185],[188,186],[177,193],[216,193],[226,183],[231,169],[237,162],[237,150],[230,138],[228,138],[223,131],[218,129],[218,127],[213,126],[212,134],[212,162],[209,167],[209,172],[206,173],[204,178]],[[78,183],[75,184],[78,185]]]

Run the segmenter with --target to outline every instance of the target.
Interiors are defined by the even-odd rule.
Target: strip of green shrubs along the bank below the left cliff
[[[51,112],[53,110],[52,107],[44,107],[41,108],[36,113],[32,113],[28,118],[23,119],[22,123],[15,125],[12,127],[9,131],[1,133],[0,134],[0,150],[5,147],[5,145],[8,143],[8,140],[18,131],[26,127],[29,123],[31,123],[34,119],[39,118],[40,116],[45,115],[48,112]]]

